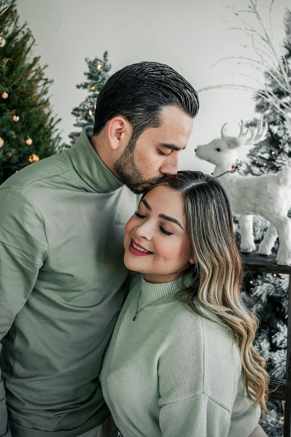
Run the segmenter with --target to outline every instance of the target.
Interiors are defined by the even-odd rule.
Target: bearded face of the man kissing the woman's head
[[[161,125],[146,129],[135,147],[132,137],[113,167],[117,177],[135,194],[164,176],[177,173],[179,153],[192,132],[193,120],[181,109],[166,106],[160,116]]]

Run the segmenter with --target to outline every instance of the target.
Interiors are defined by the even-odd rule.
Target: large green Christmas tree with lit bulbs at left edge
[[[0,184],[13,173],[59,149],[39,56],[32,56],[34,37],[21,25],[13,1],[0,2]]]

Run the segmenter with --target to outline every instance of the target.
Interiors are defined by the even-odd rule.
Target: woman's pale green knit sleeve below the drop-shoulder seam
[[[159,423],[163,437],[226,437],[229,412],[204,393],[164,404]]]

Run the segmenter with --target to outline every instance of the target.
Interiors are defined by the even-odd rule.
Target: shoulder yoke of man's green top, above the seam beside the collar
[[[35,185],[41,180],[55,177],[69,170],[71,170],[71,166],[65,160],[63,153],[52,155],[14,173],[3,182],[0,189],[11,187],[23,190],[31,184]]]

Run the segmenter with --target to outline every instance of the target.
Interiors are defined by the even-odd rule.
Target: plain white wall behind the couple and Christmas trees
[[[289,0],[275,0],[272,13],[274,40],[281,42],[282,17]],[[54,79],[51,104],[62,118],[59,128],[68,142],[75,130],[72,108],[84,99],[86,91],[75,85],[85,76],[86,57],[109,52],[112,73],[142,60],[166,63],[176,69],[196,89],[222,83],[256,85],[247,77],[228,73],[253,74],[249,66],[236,66],[233,60],[210,66],[231,55],[253,56],[240,44],[249,41],[239,30],[227,30],[233,20],[230,6],[247,9],[248,0],[21,0],[18,12],[27,21],[37,45],[35,55],[47,63],[46,75]],[[258,0],[264,21],[270,2]],[[250,14],[245,14],[247,18]],[[257,85],[256,85],[257,86]],[[194,121],[188,151],[181,153],[180,169],[213,170],[212,164],[194,156],[197,144],[205,144],[220,134],[227,121],[229,134],[236,135],[240,119],[254,115],[251,94],[236,90],[209,90],[199,94],[200,110]]]

